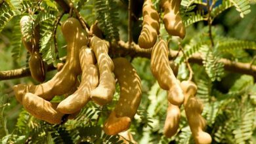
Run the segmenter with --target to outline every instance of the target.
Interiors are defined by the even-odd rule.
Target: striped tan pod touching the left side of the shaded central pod
[[[90,45],[95,52],[100,72],[100,81],[98,86],[91,91],[91,99],[98,105],[106,105],[112,101],[116,90],[116,81],[112,75],[114,63],[108,56],[108,45],[104,40],[93,36]]]

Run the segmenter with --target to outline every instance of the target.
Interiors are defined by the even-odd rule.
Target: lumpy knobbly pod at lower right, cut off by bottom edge
[[[196,143],[211,143],[211,135],[203,132],[206,122],[202,117],[203,103],[196,99],[197,86],[191,81],[182,81],[181,87],[184,92],[184,109],[188,118],[188,125]]]

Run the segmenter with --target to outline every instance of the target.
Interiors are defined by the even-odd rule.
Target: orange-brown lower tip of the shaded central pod
[[[128,130],[131,125],[131,118],[116,117],[116,112],[112,111],[106,120],[103,130],[107,135],[117,135],[119,132]]]

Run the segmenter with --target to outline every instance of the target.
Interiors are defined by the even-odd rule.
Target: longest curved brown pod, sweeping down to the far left
[[[54,96],[66,94],[77,81],[77,75],[81,73],[79,62],[79,50],[87,45],[86,31],[75,18],[68,18],[62,24],[62,33],[68,43],[67,57],[64,67],[54,75],[53,79],[39,85],[18,84],[13,87],[15,96],[21,101],[26,92],[35,94],[50,101]]]

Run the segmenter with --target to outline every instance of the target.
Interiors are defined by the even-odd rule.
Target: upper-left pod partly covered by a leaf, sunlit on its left
[[[32,33],[31,39],[26,39],[24,37],[26,29],[26,25],[32,21],[30,16],[22,16],[20,19],[20,30],[22,33],[22,43],[25,46],[25,48],[30,52],[30,54],[33,54],[33,52],[39,52],[39,40],[40,40],[40,33],[39,33],[39,25],[35,26]]]

